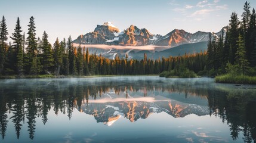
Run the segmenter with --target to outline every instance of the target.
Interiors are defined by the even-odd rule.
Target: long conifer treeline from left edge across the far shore
[[[114,60],[110,60],[95,53],[90,54],[88,49],[81,46],[74,47],[70,36],[61,42],[57,38],[51,45],[46,32],[43,33],[42,38],[36,38],[33,17],[30,17],[27,38],[17,18],[14,33],[10,36],[13,43],[7,44],[8,30],[5,21],[3,16],[0,26],[0,74],[2,75],[159,74],[180,66],[198,72],[206,65],[206,52],[163,57],[157,60],[147,58],[146,54],[143,60],[128,60],[128,55],[126,58],[119,58],[116,55]]]

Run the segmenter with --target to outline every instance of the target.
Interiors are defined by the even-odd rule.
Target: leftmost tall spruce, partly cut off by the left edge
[[[8,30],[4,15],[0,22],[0,74],[4,70],[5,55],[7,52]]]

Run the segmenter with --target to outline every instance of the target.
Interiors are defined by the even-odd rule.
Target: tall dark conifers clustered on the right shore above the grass
[[[229,73],[235,70],[238,74],[255,74],[256,66],[256,14],[250,10],[249,2],[245,2],[241,21],[233,12],[229,25],[220,38],[209,35],[207,69],[211,74]]]

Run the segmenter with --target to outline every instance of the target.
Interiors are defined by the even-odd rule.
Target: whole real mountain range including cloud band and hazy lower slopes
[[[225,28],[213,35],[219,37],[222,30],[225,36]],[[162,36],[153,35],[149,30],[145,28],[140,29],[134,25],[121,31],[113,23],[106,22],[103,25],[97,25],[93,32],[78,36],[73,41],[73,44],[75,46],[81,44],[81,46],[89,48],[91,53],[101,54],[107,58],[115,58],[117,54],[119,57],[125,57],[125,54],[128,54],[129,58],[141,58],[140,53],[144,51],[150,54],[149,57],[156,59],[159,57],[169,57],[170,55],[177,56],[179,54],[205,51],[207,49],[206,43],[209,40],[209,33],[201,31],[189,33],[185,30],[174,29]],[[184,44],[186,46],[182,46]],[[172,49],[174,47],[186,48],[179,52],[179,48]],[[168,52],[164,50],[168,50]]]

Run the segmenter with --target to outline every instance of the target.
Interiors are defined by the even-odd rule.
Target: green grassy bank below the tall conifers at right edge
[[[224,74],[215,77],[218,83],[256,84],[256,76]]]

